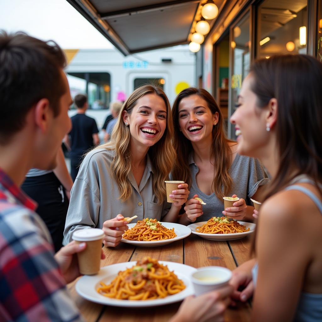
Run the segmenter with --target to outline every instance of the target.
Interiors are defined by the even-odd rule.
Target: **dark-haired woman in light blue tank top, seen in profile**
[[[233,272],[254,293],[252,321],[322,321],[322,65],[307,55],[256,61],[231,117],[238,153],[271,175],[255,259]],[[243,291],[238,291],[244,286]]]

